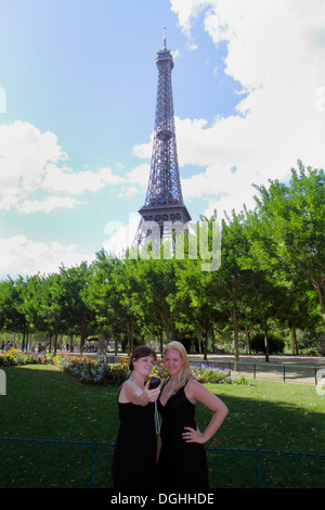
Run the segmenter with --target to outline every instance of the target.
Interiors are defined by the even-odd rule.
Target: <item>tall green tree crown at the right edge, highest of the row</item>
[[[315,289],[325,328],[325,182],[324,170],[298,162],[289,183],[270,180],[256,187],[257,235],[252,253],[261,267],[284,271],[287,280],[308,280]]]

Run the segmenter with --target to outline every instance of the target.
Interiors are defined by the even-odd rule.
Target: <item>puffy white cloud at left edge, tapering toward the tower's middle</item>
[[[41,133],[20,120],[0,126],[0,211],[20,213],[51,212],[79,204],[70,195],[95,192],[106,186],[128,184],[129,179],[115,175],[108,167],[98,171],[73,171],[64,165],[66,153],[53,132]],[[32,193],[42,190],[50,196],[36,200]],[[53,196],[64,193],[68,196]]]

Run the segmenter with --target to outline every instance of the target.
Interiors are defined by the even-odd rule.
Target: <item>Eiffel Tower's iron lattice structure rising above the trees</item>
[[[139,211],[141,221],[135,237],[138,244],[151,233],[151,221],[159,226],[161,238],[166,233],[168,235],[166,225],[169,224],[170,229],[170,222],[181,221],[185,225],[191,220],[183,202],[179,173],[171,88],[173,59],[166,47],[166,29],[164,48],[157,53],[156,64],[158,88],[153,153],[145,204]]]

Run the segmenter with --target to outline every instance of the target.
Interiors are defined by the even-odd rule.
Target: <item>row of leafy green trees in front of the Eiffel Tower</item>
[[[222,220],[221,264],[203,271],[191,259],[188,237],[183,259],[112,257],[104,251],[91,265],[61,267],[47,276],[8,278],[0,282],[0,329],[80,335],[103,331],[116,340],[134,334],[164,340],[199,339],[207,354],[209,336],[231,322],[235,357],[239,330],[247,342],[256,328],[288,328],[296,349],[296,330],[325,329],[325,188],[324,171],[291,169],[288,183],[257,187],[256,208]],[[203,218],[211,232],[217,214]],[[209,242],[212,243],[211,233]],[[320,335],[321,337],[321,335]]]

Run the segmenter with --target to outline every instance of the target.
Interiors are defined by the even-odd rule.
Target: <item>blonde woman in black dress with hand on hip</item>
[[[158,444],[159,487],[192,492],[207,489],[209,480],[204,444],[221,426],[229,412],[227,407],[195,381],[186,350],[180,342],[166,345],[165,367],[169,379],[164,381],[158,397],[158,410],[161,415]],[[197,401],[213,413],[204,432],[195,423]]]

